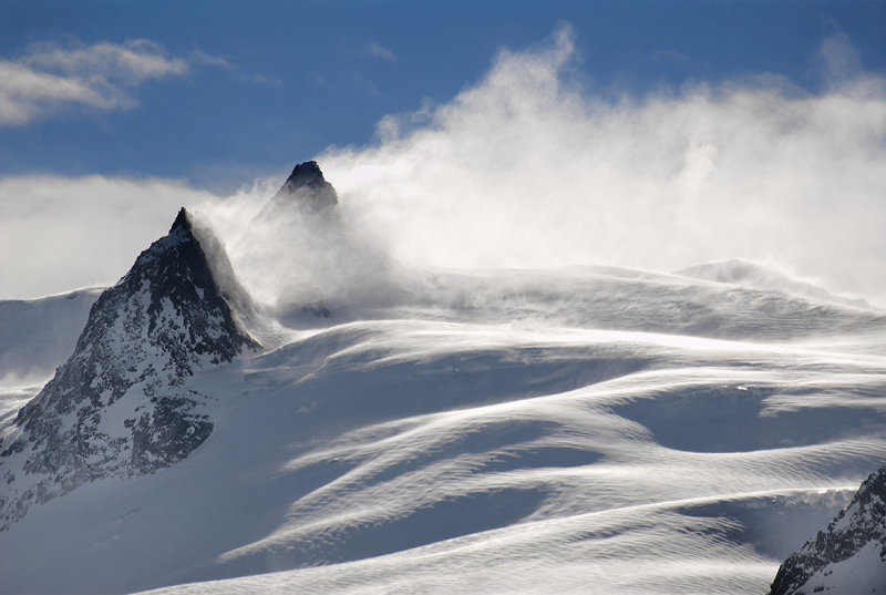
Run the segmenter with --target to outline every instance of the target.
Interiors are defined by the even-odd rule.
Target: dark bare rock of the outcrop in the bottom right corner
[[[858,555],[869,544],[879,553],[883,571],[879,582],[868,586],[886,586],[886,466],[862,483],[849,505],[824,531],[784,561],[770,595],[824,592],[823,586],[808,588],[810,581],[818,575],[827,576],[830,566]]]

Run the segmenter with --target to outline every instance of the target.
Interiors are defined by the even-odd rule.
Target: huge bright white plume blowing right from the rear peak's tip
[[[882,299],[886,82],[851,50],[837,37],[811,57],[842,64],[818,94],[760,74],[631,98],[579,83],[564,27],[320,160],[357,228],[416,266],[742,257]]]

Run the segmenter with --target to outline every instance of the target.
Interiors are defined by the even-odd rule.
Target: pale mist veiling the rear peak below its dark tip
[[[310,320],[329,316],[330,308],[341,315],[390,302],[393,264],[377,238],[340,205],[315,211],[303,196],[289,196],[270,216],[256,212],[267,203],[266,188],[259,184],[241,194],[222,206],[220,216],[214,203],[199,207],[222,228],[231,264],[255,299],[290,322],[292,315]]]

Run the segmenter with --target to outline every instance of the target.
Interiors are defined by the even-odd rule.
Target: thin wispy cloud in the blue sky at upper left
[[[161,44],[144,39],[32,45],[18,59],[0,59],[0,126],[27,124],[70,104],[132,107],[135,86],[187,70],[184,59],[169,57]]]

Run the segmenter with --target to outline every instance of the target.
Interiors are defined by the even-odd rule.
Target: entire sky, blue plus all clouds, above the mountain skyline
[[[399,260],[742,257],[886,304],[884,30],[874,1],[8,0],[0,298],[113,283],[181,205],[234,253],[317,157]]]

